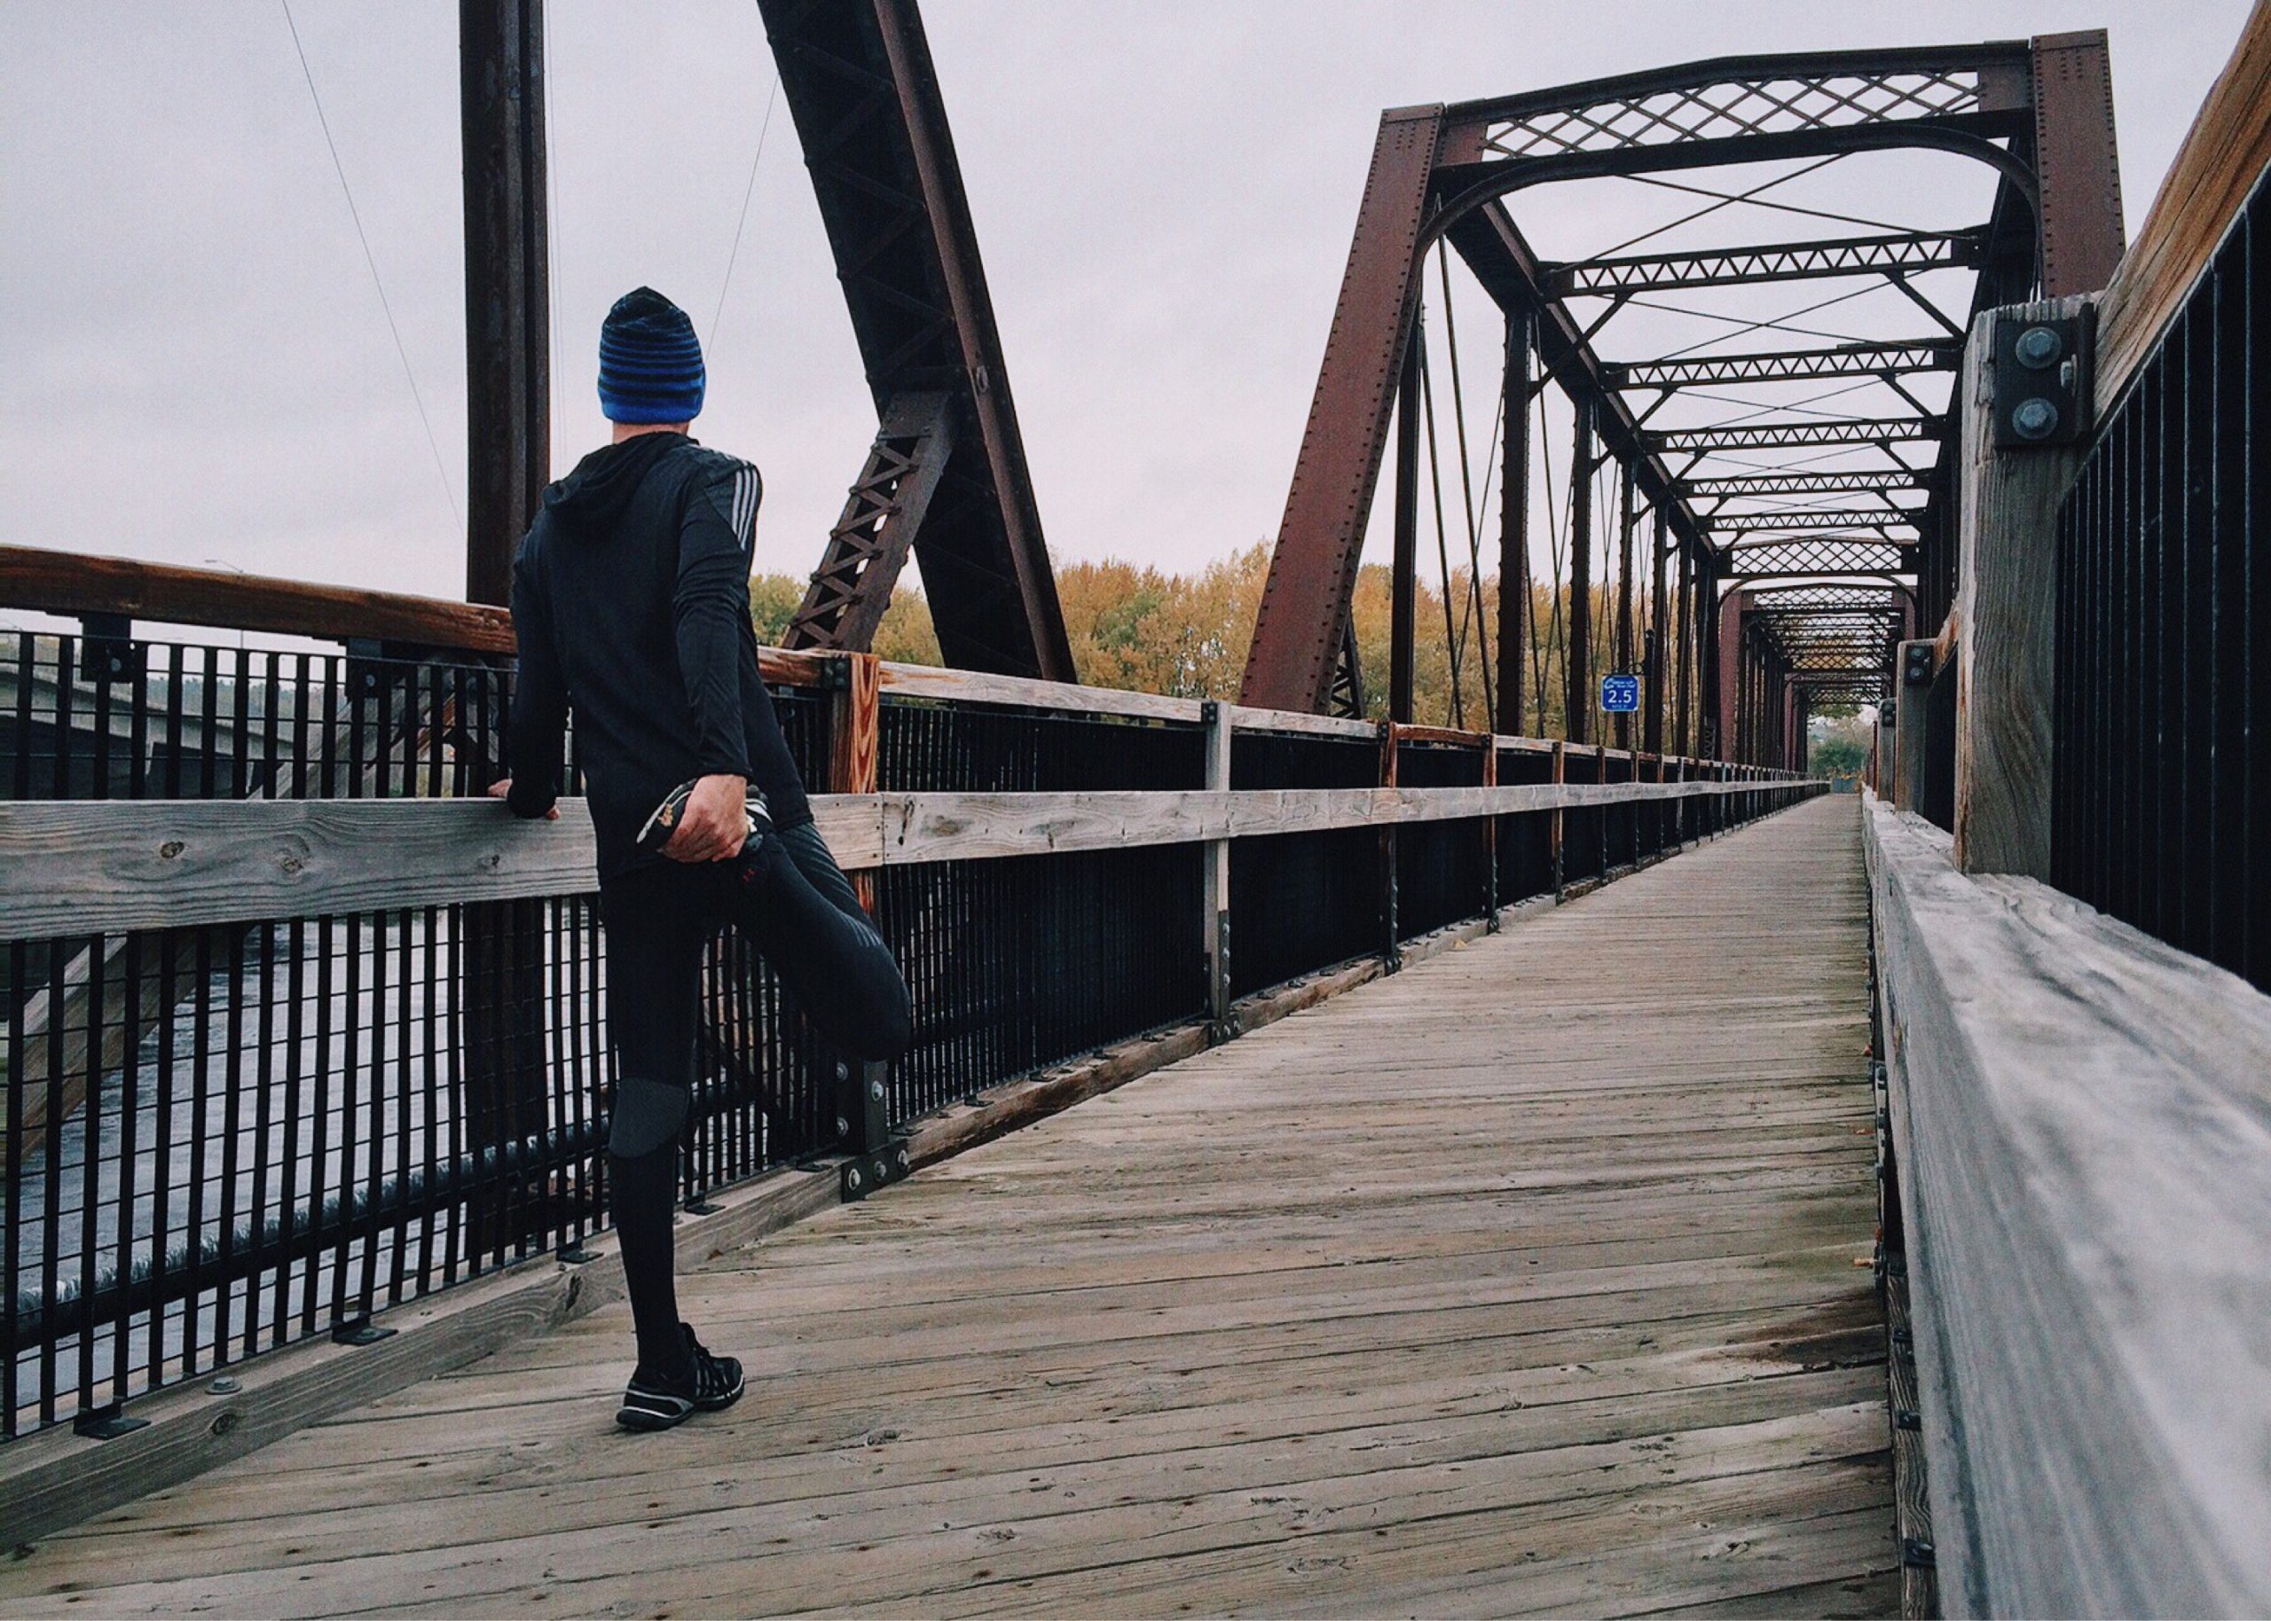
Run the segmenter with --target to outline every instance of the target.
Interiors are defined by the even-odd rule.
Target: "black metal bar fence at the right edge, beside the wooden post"
[[[2058,520],[2053,881],[2271,990],[2271,204],[2232,220]]]

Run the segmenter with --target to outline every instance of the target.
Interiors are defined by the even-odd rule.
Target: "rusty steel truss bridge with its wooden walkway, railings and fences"
[[[759,672],[915,1031],[706,944],[659,1446],[459,11],[468,599],[0,547],[0,1607],[2271,1612],[2271,0],[2130,247],[2103,34],[1388,111],[1240,702],[1076,681],[913,0],[759,0],[877,415]]]

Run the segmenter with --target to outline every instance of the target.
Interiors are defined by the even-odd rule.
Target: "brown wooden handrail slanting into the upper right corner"
[[[2271,168],[2271,0],[2255,0],[2230,61],[2153,193],[2137,241],[2098,300],[2098,420],[2182,309],[2239,204]]]

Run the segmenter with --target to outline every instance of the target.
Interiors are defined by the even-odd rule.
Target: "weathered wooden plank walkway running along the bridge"
[[[1817,799],[0,1564],[9,1614],[1896,1610]]]

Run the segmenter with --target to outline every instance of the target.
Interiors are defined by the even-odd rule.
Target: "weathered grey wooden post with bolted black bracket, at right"
[[[1962,415],[1955,865],[1962,872],[2051,876],[2058,502],[2083,459],[2080,443],[1996,450],[1994,334],[1998,322],[2035,320],[2080,320],[2087,331],[2094,309],[2094,297],[2060,297],[1987,311],[1964,343],[1955,397]],[[2087,379],[2080,397],[2089,400]]]

